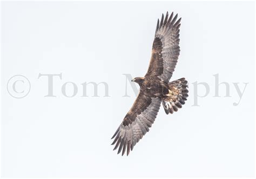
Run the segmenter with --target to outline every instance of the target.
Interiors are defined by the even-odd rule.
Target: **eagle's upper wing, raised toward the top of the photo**
[[[164,18],[157,22],[154,36],[152,55],[149,69],[145,76],[158,76],[161,80],[169,82],[176,66],[179,48],[179,27],[180,20],[178,14],[173,18],[173,12],[169,17],[168,12]],[[177,21],[176,21],[177,20]]]

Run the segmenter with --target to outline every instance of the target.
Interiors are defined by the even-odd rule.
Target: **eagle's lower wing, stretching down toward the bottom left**
[[[157,117],[160,104],[160,98],[145,96],[139,92],[132,108],[111,138],[114,138],[112,145],[116,144],[114,150],[119,147],[118,154],[123,150],[122,155],[124,155],[127,149],[127,155],[129,155],[134,145],[142,139],[146,132],[149,132],[149,127]]]

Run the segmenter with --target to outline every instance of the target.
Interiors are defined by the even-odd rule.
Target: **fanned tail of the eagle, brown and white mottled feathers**
[[[178,111],[185,101],[187,100],[188,86],[185,78],[180,78],[179,80],[172,81],[168,83],[169,94],[162,98],[162,103],[166,114],[173,113],[173,111]]]

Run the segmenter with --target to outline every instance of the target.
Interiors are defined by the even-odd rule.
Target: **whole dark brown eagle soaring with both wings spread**
[[[181,18],[178,14],[169,17],[167,12],[157,21],[154,34],[149,69],[144,77],[133,78],[139,84],[139,94],[130,111],[114,133],[112,145],[118,148],[118,154],[127,151],[129,155],[137,142],[142,139],[157,117],[161,103],[166,114],[178,111],[188,97],[187,81],[180,78],[169,82],[176,66],[179,47],[179,27]]]

